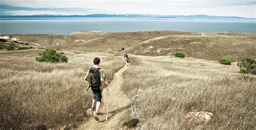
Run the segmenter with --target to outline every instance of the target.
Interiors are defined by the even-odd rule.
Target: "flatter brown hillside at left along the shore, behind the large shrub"
[[[70,35],[8,35],[21,41],[44,47],[92,52],[118,52],[122,47],[137,45],[144,40],[166,35],[197,35],[196,32],[139,31],[139,32],[73,32]]]

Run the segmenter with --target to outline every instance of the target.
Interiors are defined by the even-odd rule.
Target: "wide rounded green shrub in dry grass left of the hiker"
[[[68,62],[68,57],[63,55],[63,52],[56,53],[54,49],[45,49],[44,52],[39,53],[39,57],[36,57],[36,60],[39,62],[49,62],[49,63],[60,63]]]

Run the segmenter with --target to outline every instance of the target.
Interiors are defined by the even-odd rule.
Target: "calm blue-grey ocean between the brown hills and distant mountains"
[[[48,18],[1,19],[0,34],[60,34],[76,31],[199,31],[199,32],[256,32],[255,21],[170,20],[133,18]]]

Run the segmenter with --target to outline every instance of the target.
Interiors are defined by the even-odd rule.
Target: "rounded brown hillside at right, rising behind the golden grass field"
[[[148,40],[125,52],[143,56],[173,56],[176,52],[186,57],[219,60],[221,57],[237,61],[242,57],[256,58],[256,37],[250,34],[219,34],[201,36],[166,36]]]

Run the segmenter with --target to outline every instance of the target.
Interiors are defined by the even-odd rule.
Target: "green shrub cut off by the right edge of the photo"
[[[238,60],[237,66],[240,69],[240,73],[256,74],[256,60],[252,58],[242,58]]]

